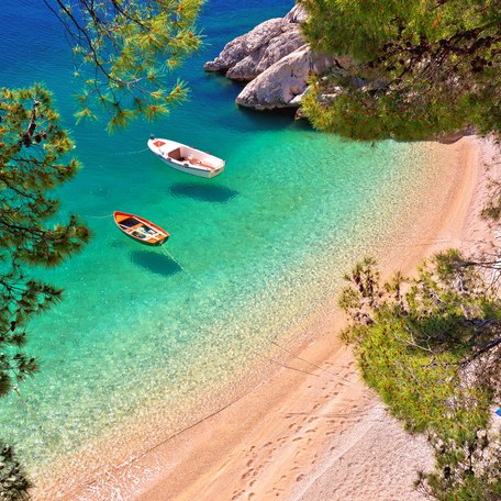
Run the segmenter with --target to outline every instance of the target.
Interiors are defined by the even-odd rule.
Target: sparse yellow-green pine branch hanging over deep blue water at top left
[[[109,115],[110,130],[136,116],[165,116],[187,99],[168,74],[200,45],[194,21],[203,0],[45,0],[74,41],[84,80],[77,120]],[[168,90],[167,90],[168,89]]]

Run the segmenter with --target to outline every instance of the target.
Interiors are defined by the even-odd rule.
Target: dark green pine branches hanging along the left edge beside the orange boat
[[[62,291],[29,277],[78,252],[89,232],[74,215],[48,225],[59,203],[47,192],[71,179],[79,165],[42,86],[0,90],[0,397],[36,369],[22,352],[25,326]]]

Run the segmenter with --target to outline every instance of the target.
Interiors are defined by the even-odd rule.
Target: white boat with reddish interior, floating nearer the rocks
[[[221,158],[175,141],[151,137],[148,148],[158,158],[181,172],[212,178],[224,170],[225,162]]]

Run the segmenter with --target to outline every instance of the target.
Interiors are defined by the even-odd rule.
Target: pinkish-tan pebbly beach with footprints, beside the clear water
[[[431,189],[443,210],[431,203],[421,213],[411,232],[416,245],[377,256],[383,277],[486,234],[478,220],[487,185],[480,140],[433,149],[456,159],[449,178]],[[144,458],[145,467],[165,466],[134,499],[422,499],[412,481],[415,469],[431,465],[425,441],[407,435],[358,379],[349,349],[333,335],[344,324],[335,304],[332,298],[310,318],[305,330],[316,336],[289,358],[289,369]]]

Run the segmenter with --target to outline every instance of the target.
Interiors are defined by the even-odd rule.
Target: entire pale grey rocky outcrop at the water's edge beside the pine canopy
[[[250,81],[236,102],[244,107],[271,109],[299,107],[312,73],[323,73],[333,57],[312,53],[301,36],[307,12],[296,5],[285,18],[271,19],[226,44],[205,63],[207,71],[226,71],[234,80]]]

